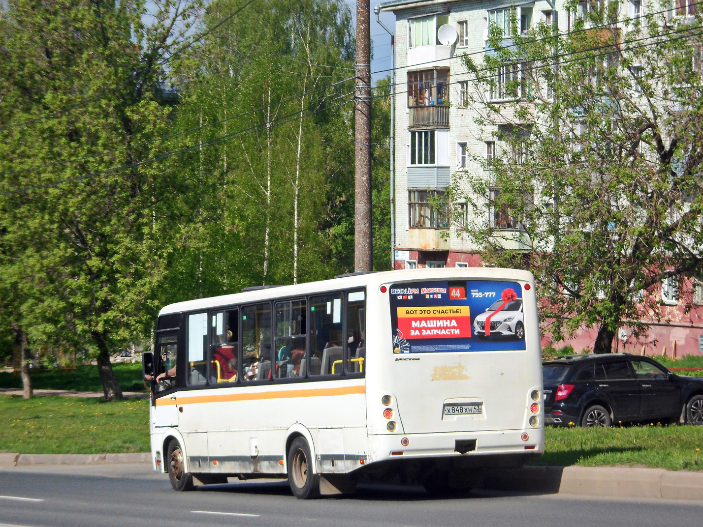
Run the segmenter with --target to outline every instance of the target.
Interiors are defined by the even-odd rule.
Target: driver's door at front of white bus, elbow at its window
[[[154,391],[155,406],[153,408],[153,426],[155,428],[177,427],[178,406],[176,406],[176,377],[169,376],[176,366],[176,350],[178,348],[178,332],[163,333],[157,337],[156,374],[167,373],[167,376],[157,383]]]

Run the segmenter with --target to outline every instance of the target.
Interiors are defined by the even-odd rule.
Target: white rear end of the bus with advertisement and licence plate
[[[367,291],[368,340],[378,347],[366,374],[372,465],[444,486],[475,467],[519,466],[543,453],[532,274],[455,268],[377,276]]]

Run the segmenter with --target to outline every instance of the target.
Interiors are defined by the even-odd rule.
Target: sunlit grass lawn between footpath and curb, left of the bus
[[[0,395],[0,453],[148,452],[149,401]]]

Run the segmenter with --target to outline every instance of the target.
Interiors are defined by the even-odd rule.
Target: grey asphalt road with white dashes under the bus
[[[295,499],[285,482],[236,482],[188,493],[148,465],[0,469],[0,527],[696,526],[703,504],[360,485],[347,498]]]

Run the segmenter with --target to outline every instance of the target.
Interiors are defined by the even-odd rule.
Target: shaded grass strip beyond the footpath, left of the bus
[[[146,392],[141,380],[141,362],[114,363],[117,382],[123,392]],[[102,392],[103,383],[98,375],[98,366],[79,364],[75,371],[30,370],[32,387],[36,389],[73,389],[81,392]],[[22,388],[22,379],[8,371],[0,371],[0,388]]]

